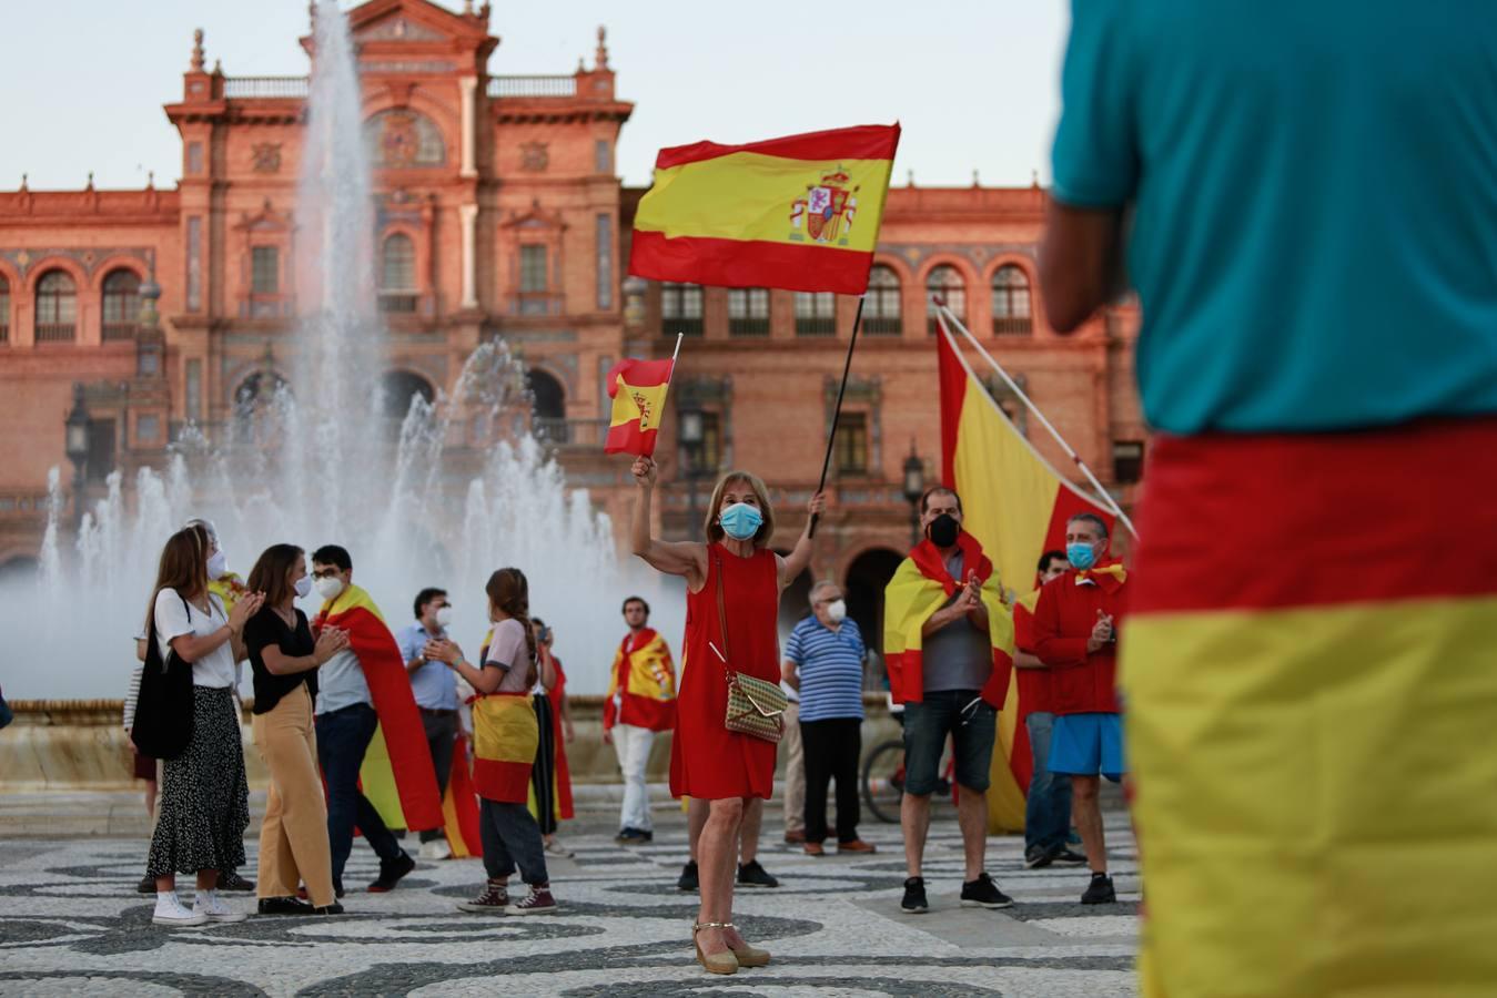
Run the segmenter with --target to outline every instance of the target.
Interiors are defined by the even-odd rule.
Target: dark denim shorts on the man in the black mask
[[[904,792],[924,798],[936,792],[946,736],[954,741],[957,783],[969,790],[988,789],[998,712],[985,702],[963,714],[978,699],[976,690],[927,693],[921,703],[904,705]]]

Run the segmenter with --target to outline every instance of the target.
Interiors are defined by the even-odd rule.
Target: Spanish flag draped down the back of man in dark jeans
[[[364,754],[359,780],[370,802],[392,827],[413,832],[442,827],[442,798],[421,711],[410,691],[395,636],[370,594],[356,585],[323,603],[316,625],[349,633],[349,649],[364,669],[379,730]]]

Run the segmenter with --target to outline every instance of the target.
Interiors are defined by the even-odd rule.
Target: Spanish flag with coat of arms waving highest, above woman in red
[[[660,150],[629,272],[659,281],[861,295],[898,124]]]

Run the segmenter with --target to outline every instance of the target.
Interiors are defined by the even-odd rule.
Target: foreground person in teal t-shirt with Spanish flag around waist
[[[1497,9],[1072,10],[1040,290],[1061,332],[1138,290],[1157,431],[1120,649],[1142,991],[1485,994]]]

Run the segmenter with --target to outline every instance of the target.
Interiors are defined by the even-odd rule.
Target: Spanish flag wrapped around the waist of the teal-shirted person
[[[1497,417],[1156,438],[1120,645],[1150,998],[1497,994],[1494,455]]]

